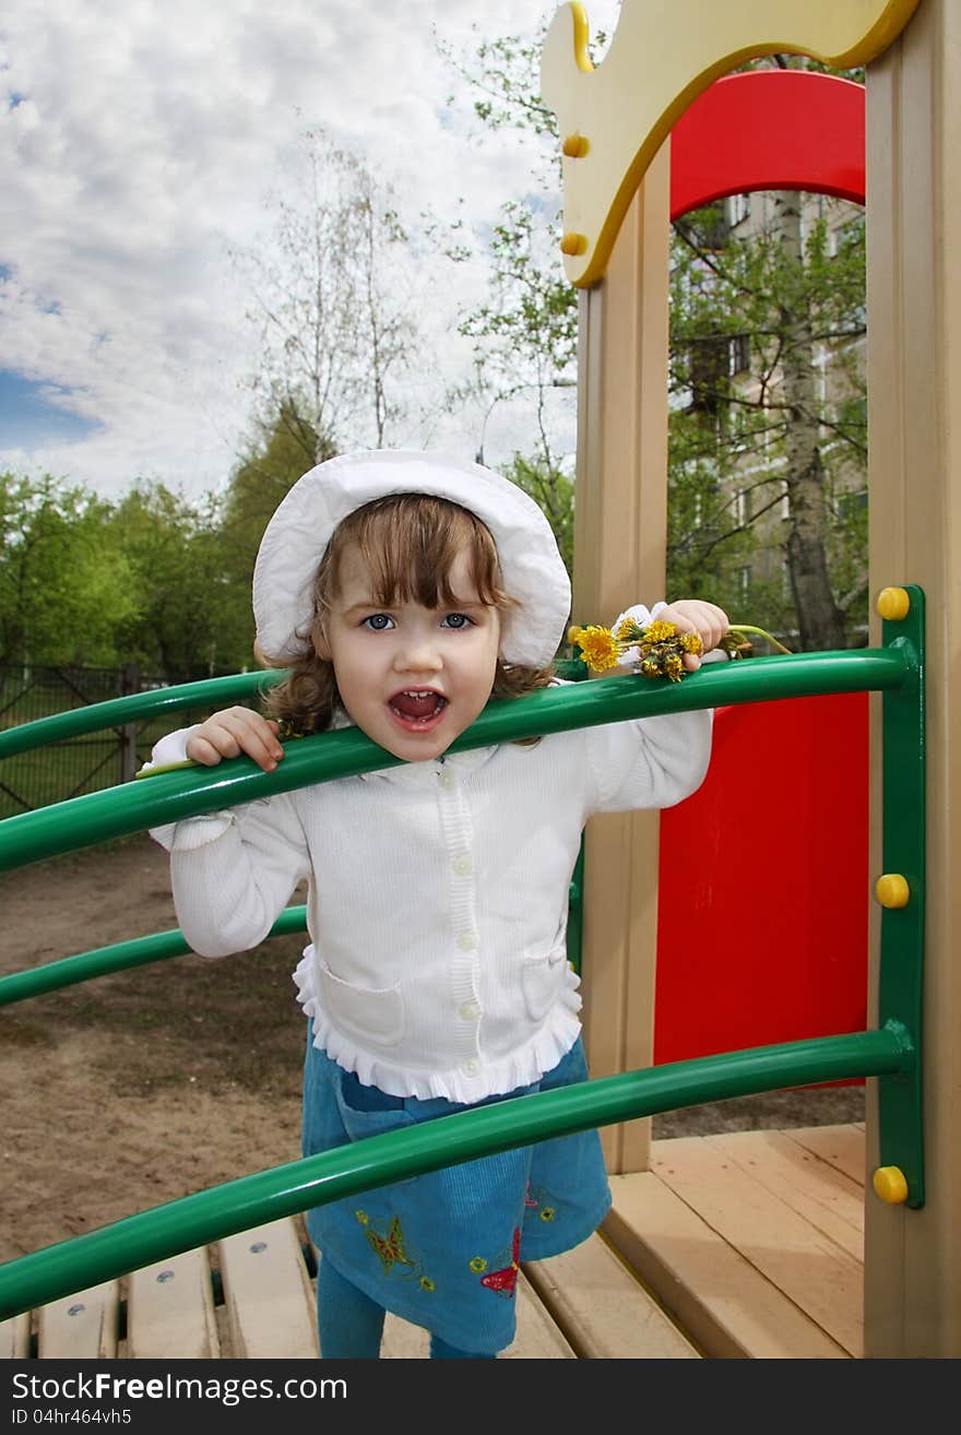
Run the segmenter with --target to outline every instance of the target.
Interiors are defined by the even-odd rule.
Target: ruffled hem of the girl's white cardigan
[[[304,1015],[313,1020],[314,1046],[326,1052],[344,1071],[354,1072],[364,1086],[377,1086],[390,1096],[417,1096],[429,1101],[442,1096],[460,1105],[475,1105],[488,1096],[503,1096],[518,1086],[529,1086],[545,1072],[554,1071],[571,1050],[581,1035],[581,997],[577,990],[579,977],[571,973],[571,986],[565,987],[544,1026],[529,1042],[509,1056],[483,1063],[483,1076],[466,1078],[455,1066],[442,1072],[413,1072],[389,1066],[370,1052],[364,1052],[354,1040],[331,1026],[326,1016],[314,984],[314,949],[306,947],[294,969],[297,1000]]]

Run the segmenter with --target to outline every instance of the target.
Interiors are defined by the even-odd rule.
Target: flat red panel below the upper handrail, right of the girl
[[[721,707],[661,814],[655,1063],[863,1030],[868,695]]]

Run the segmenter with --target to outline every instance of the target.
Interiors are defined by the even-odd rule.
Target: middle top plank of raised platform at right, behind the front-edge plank
[[[861,1185],[779,1131],[740,1131],[704,1139],[863,1264]]]

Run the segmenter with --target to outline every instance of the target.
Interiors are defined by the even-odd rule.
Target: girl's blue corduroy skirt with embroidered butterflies
[[[578,1040],[539,1082],[480,1105],[585,1079]],[[304,1155],[466,1109],[363,1086],[313,1045],[308,1023]],[[519,1263],[578,1246],[610,1204],[598,1134],[584,1131],[317,1205],[307,1230],[323,1260],[384,1310],[493,1355],[513,1340]]]

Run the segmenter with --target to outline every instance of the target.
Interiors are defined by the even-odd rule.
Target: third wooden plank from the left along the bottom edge
[[[126,1355],[131,1360],[219,1359],[207,1247],[128,1277]]]

